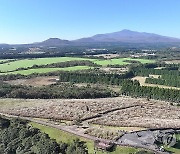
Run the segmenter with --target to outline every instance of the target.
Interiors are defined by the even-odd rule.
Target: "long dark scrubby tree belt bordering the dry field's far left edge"
[[[117,96],[110,89],[101,87],[82,86],[72,84],[32,87],[23,85],[0,85],[0,97],[24,99],[56,99],[56,98],[105,98]]]

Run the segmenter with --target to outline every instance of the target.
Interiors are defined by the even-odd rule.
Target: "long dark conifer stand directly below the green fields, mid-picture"
[[[125,74],[62,72],[60,73],[59,79],[60,82],[121,85],[124,79],[131,77],[133,77],[132,72],[127,72]]]

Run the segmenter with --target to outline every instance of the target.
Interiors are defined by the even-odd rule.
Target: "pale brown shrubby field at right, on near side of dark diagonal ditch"
[[[91,122],[111,126],[179,128],[180,108],[165,103],[152,103],[141,107],[115,111],[106,116],[93,119]]]

